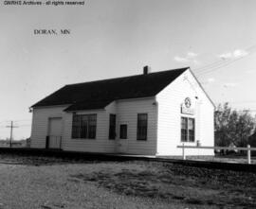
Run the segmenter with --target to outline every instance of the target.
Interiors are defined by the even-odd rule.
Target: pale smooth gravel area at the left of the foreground
[[[161,202],[111,192],[72,176],[89,174],[119,164],[0,165],[0,208],[184,208],[179,202]],[[136,165],[130,165],[135,167]],[[139,167],[139,166],[138,166]]]

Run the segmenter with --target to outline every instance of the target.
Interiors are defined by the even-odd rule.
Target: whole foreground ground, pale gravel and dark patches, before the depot
[[[0,154],[0,209],[256,208],[256,174]]]

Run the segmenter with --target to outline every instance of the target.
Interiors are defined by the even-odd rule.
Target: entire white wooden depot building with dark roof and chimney
[[[31,108],[31,148],[181,155],[183,143],[214,145],[214,105],[190,68],[65,85]]]

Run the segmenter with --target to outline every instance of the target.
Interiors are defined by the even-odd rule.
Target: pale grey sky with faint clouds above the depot
[[[41,0],[45,2],[46,0]],[[256,113],[255,0],[0,3],[0,139],[31,130],[28,108],[65,84],[190,66],[213,102]],[[34,29],[70,29],[34,35]]]

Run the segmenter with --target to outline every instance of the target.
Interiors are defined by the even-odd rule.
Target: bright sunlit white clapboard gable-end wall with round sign
[[[199,140],[202,146],[214,145],[214,106],[193,78],[190,70],[187,70],[156,96],[158,155],[181,155],[181,148],[176,148],[176,146],[182,145],[180,106],[186,97],[190,97],[194,105],[195,142],[187,142],[185,145],[195,146],[196,140]],[[187,149],[186,152],[186,155],[213,155],[212,150]]]

